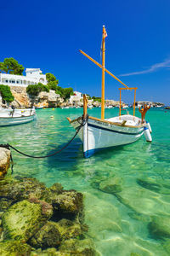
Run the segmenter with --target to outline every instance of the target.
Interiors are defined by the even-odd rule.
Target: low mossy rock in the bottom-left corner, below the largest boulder
[[[21,241],[0,242],[0,255],[2,256],[23,256],[30,255],[31,247]]]

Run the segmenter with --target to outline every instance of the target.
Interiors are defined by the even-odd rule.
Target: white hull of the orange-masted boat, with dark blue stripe
[[[132,119],[133,116],[129,115],[129,117]],[[138,118],[135,117],[135,119],[139,121]],[[83,143],[84,157],[90,157],[97,150],[126,145],[139,140],[144,133],[144,125],[138,125],[137,127],[132,125],[123,126],[121,125],[122,120],[116,125],[110,121],[107,122],[107,120],[105,122],[105,120],[88,119],[86,125],[78,133]],[[80,119],[73,120],[71,125],[77,129],[80,126]]]

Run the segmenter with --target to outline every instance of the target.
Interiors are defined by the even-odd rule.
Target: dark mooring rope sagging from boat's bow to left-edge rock
[[[42,155],[42,156],[26,154],[26,153],[21,152],[19,149],[14,148],[12,145],[10,145],[8,143],[7,144],[0,144],[0,147],[1,148],[7,148],[8,150],[10,150],[10,148],[13,148],[17,153],[22,154],[26,157],[30,157],[30,158],[36,158],[36,159],[48,158],[48,157],[54,156],[55,154],[59,154],[61,151],[63,151],[65,148],[67,148],[69,146],[69,144],[74,140],[74,138],[77,137],[78,132],[81,130],[81,128],[84,125],[86,125],[87,122],[88,122],[88,114],[87,114],[85,119],[82,116],[82,122],[81,123],[78,122],[80,124],[80,126],[78,126],[77,131],[76,131],[75,135],[71,138],[71,140],[68,143],[66,143],[63,148],[60,148],[59,150],[55,151],[53,154],[47,154],[47,155]],[[13,161],[13,158],[12,158],[12,154],[10,154],[10,160],[11,160],[11,163],[12,163],[11,171],[13,173],[14,172],[13,171],[14,161]]]

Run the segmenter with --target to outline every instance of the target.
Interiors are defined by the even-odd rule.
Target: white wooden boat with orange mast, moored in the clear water
[[[83,96],[83,115],[73,120],[67,118],[70,124],[76,130],[80,127],[83,121],[84,125],[79,131],[78,136],[81,138],[83,143],[83,155],[85,158],[90,157],[97,150],[134,143],[139,140],[139,138],[143,134],[146,138],[146,141],[152,141],[150,135],[150,124],[146,123],[146,121],[144,120],[145,113],[149,108],[147,106],[144,106],[144,108],[140,109],[140,112],[142,114],[141,119],[135,116],[136,90],[138,88],[128,87],[126,84],[123,84],[120,79],[117,79],[115,75],[113,75],[105,68],[106,36],[107,34],[105,31],[105,26],[103,26],[102,65],[100,65],[97,61],[94,61],[94,59],[92,59],[89,55],[85,54],[84,52],[82,52],[82,50],[80,50],[80,52],[88,57],[89,60],[93,61],[96,65],[102,68],[101,119],[88,116],[88,99],[85,95]],[[125,86],[124,88],[119,88],[119,116],[113,117],[111,119],[105,119],[105,72],[109,73],[114,79],[116,79],[119,83]],[[134,90],[133,115],[122,114],[122,90]]]

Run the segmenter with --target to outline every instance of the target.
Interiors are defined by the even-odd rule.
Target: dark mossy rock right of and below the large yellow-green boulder
[[[58,247],[60,235],[58,225],[48,221],[37,233],[31,237],[29,244],[35,248]]]

